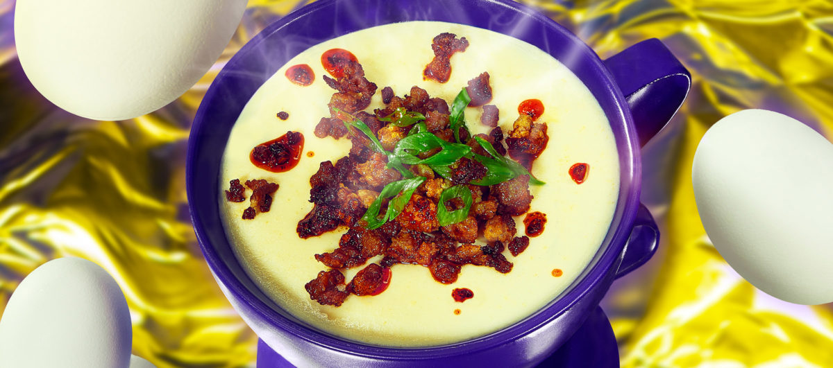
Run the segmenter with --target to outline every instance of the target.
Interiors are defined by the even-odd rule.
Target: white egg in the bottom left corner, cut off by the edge
[[[0,367],[127,368],[131,343],[122,290],[81,258],[37,267],[0,317]]]

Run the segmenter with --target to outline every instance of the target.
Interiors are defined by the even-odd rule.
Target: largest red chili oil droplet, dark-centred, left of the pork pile
[[[249,160],[254,166],[269,172],[288,172],[298,164],[303,149],[303,134],[287,132],[281,137],[252,148]]]

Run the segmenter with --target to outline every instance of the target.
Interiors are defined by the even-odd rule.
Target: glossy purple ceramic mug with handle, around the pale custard
[[[605,112],[620,158],[620,191],[599,251],[561,296],[532,316],[469,341],[392,348],[347,341],[283,311],[243,271],[223,231],[220,163],[227,137],[263,82],[308,47],[392,22],[441,21],[501,32],[539,47],[570,68]],[[291,41],[291,42],[290,42]],[[602,61],[566,28],[507,0],[325,0],[313,2],[252,38],[208,89],[188,141],[187,195],[194,230],[223,293],[272,350],[296,366],[532,366],[564,344],[596,311],[611,282],[644,264],[659,231],[639,202],[639,147],[686,98],[691,76],[658,40]]]

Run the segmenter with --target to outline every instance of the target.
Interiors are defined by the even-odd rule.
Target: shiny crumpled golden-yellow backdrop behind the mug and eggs
[[[833,307],[776,301],[743,281],[711,246],[691,189],[697,142],[731,112],[768,108],[833,137],[833,3],[526,2],[601,57],[658,37],[694,78],[681,112],[643,151],[642,201],[661,225],[661,250],[602,303],[622,366],[833,366]],[[185,149],[217,72],[298,2],[250,1],[196,86],[122,122],[73,117],[31,87],[14,51],[13,5],[0,0],[0,312],[35,267],[82,256],[122,287],[133,354],[160,368],[253,366],[257,337],[219,291],[188,221]]]

